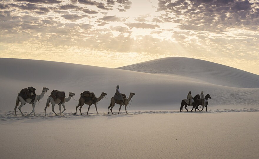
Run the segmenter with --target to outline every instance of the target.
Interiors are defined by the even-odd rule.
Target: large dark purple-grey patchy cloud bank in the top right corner
[[[227,28],[258,27],[259,2],[248,0],[158,0],[158,11],[174,13],[180,29],[223,31]],[[180,20],[182,19],[182,20]]]

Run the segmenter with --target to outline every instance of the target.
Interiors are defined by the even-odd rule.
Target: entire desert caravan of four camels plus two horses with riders
[[[29,103],[29,104],[32,104],[32,111],[31,113],[34,113],[34,116],[35,116],[35,111],[34,111],[34,108],[35,108],[35,105],[36,105],[36,102],[43,98],[44,97],[44,94],[49,90],[48,88],[46,87],[43,87],[42,89],[42,92],[40,95],[37,95],[35,93],[35,88],[33,87],[28,87],[28,88],[24,88],[21,90],[21,92],[18,93],[18,96],[16,98],[16,104],[15,104],[15,108],[14,108],[14,111],[15,111],[15,115],[16,115],[16,109],[17,109],[17,106],[19,105],[19,103],[21,102],[21,105],[18,107],[19,111],[21,112],[21,115],[24,116],[24,114],[22,113],[21,111],[21,107],[24,106],[26,103]],[[126,97],[125,94],[122,94],[119,90],[119,85],[116,86],[116,90],[115,90],[115,94],[114,96],[111,98],[111,102],[110,102],[110,105],[108,106],[108,114],[110,113],[110,111],[112,112],[112,108],[114,107],[115,104],[119,104],[119,112],[120,112],[120,109],[122,106],[125,106],[125,111],[126,111],[126,114],[128,114],[127,112],[127,106],[129,104],[130,101],[132,101],[132,97],[135,95],[135,93],[130,93],[129,94],[129,97]],[[68,98],[66,98],[65,96],[65,92],[62,92],[62,91],[59,91],[59,90],[53,90],[50,94],[50,96],[48,96],[48,99],[47,99],[47,103],[46,103],[46,106],[44,108],[44,115],[46,116],[46,110],[47,110],[47,107],[49,107],[49,103],[51,103],[52,105],[52,111],[53,113],[57,116],[58,114],[61,115],[65,110],[65,102],[69,102],[70,99],[75,96],[74,93],[72,92],[69,92],[69,96]],[[97,114],[98,111],[97,111],[97,102],[99,102],[101,99],[103,99],[105,96],[107,96],[106,93],[102,92],[101,95],[99,97],[96,97],[94,92],[89,92],[89,91],[84,91],[83,93],[80,94],[80,98],[78,100],[78,105],[76,106],[76,112],[73,114],[73,115],[76,115],[77,114],[77,108],[80,106],[79,108],[79,111],[80,111],[80,114],[82,114],[81,112],[81,109],[82,109],[82,106],[84,104],[87,104],[89,105],[88,106],[88,109],[87,109],[87,115],[88,115],[88,112],[89,112],[89,109],[90,109],[90,106],[92,104],[94,104],[95,106],[95,109],[96,109],[96,112]],[[73,97],[74,98],[74,97]],[[107,98],[108,99],[108,98]],[[182,102],[181,102],[181,106],[180,106],[180,111],[182,111],[183,109],[183,106],[185,106],[185,109],[188,111],[187,109],[187,106],[192,106],[192,110],[195,109],[200,111],[200,109],[198,108],[198,106],[201,106],[202,105],[202,110],[204,107],[206,107],[206,111],[207,111],[207,105],[208,105],[208,99],[211,99],[210,95],[207,94],[205,97],[203,95],[203,91],[201,92],[201,94],[197,94],[195,95],[194,97],[192,97],[191,95],[191,91],[188,93],[187,95],[187,99],[183,99]],[[75,99],[74,99],[75,100]],[[59,105],[59,113],[57,114],[55,111],[54,111],[54,107],[55,105],[58,104]],[[63,106],[63,111],[61,111],[61,105]],[[191,111],[192,111],[191,110]],[[202,111],[201,110],[201,111]],[[118,112],[118,114],[119,114]],[[31,113],[29,115],[31,115]],[[113,114],[113,112],[112,112]]]

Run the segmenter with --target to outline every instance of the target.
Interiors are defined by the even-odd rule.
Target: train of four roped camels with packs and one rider
[[[17,109],[17,106],[19,105],[19,103],[21,102],[21,105],[18,107],[19,111],[21,112],[21,115],[24,116],[24,114],[22,113],[21,111],[21,107],[24,106],[26,103],[29,103],[29,104],[32,104],[32,111],[31,113],[33,112],[34,113],[34,116],[35,116],[35,112],[34,112],[34,108],[35,108],[35,105],[36,105],[36,102],[43,98],[44,97],[44,94],[49,90],[48,88],[46,87],[43,87],[42,89],[42,93],[40,95],[36,95],[35,93],[35,88],[33,87],[28,87],[28,88],[24,88],[21,90],[21,92],[18,93],[18,96],[16,98],[16,105],[15,105],[15,108],[14,108],[14,111],[15,111],[15,115],[16,114],[16,109]],[[94,94],[94,92],[89,92],[89,91],[84,91],[83,93],[80,94],[80,98],[78,100],[78,105],[76,106],[76,112],[73,114],[73,115],[76,115],[77,114],[77,108],[80,106],[79,108],[79,111],[80,111],[80,114],[82,114],[81,112],[81,109],[82,109],[82,106],[84,104],[87,104],[89,105],[88,106],[88,110],[87,110],[87,115],[88,115],[88,112],[89,112],[89,109],[90,109],[90,106],[92,104],[94,104],[95,106],[95,109],[96,109],[96,112],[97,114],[98,111],[97,111],[97,102],[99,102],[101,99],[103,99],[107,94],[102,92],[101,95],[97,98]],[[110,103],[110,106],[108,107],[108,110],[109,108],[111,107],[111,112],[112,112],[112,108],[113,106],[116,104],[119,104],[120,107],[119,107],[119,111],[121,109],[121,106],[124,105],[125,106],[125,111],[127,113],[127,109],[126,107],[128,106],[129,104],[129,101],[132,99],[132,97],[135,95],[135,93],[130,93],[129,97],[126,97],[125,94],[121,94],[120,91],[119,91],[119,86],[117,86],[116,88],[116,93],[114,95],[114,97],[111,98],[111,103]],[[69,102],[70,99],[75,96],[74,93],[72,92],[69,92],[69,97],[66,98],[65,96],[65,92],[62,92],[62,91],[59,91],[59,90],[53,90],[50,94],[50,96],[48,96],[48,99],[47,99],[47,103],[46,103],[46,106],[44,108],[44,115],[46,116],[46,110],[47,110],[47,107],[49,107],[49,103],[51,103],[52,105],[52,111],[53,113],[57,116],[58,114],[61,115],[65,110],[65,102]],[[118,96],[122,97],[122,98],[117,98]],[[74,97],[73,97],[74,98]],[[59,105],[59,113],[57,114],[55,111],[54,111],[54,107],[55,105],[58,104]],[[63,111],[61,112],[61,105],[63,106]],[[29,115],[31,115],[31,113]],[[109,114],[109,112],[108,112]],[[112,113],[113,114],[113,113]],[[119,112],[118,112],[119,114]],[[128,114],[128,113],[127,113]],[[28,116],[29,116],[28,115]]]

